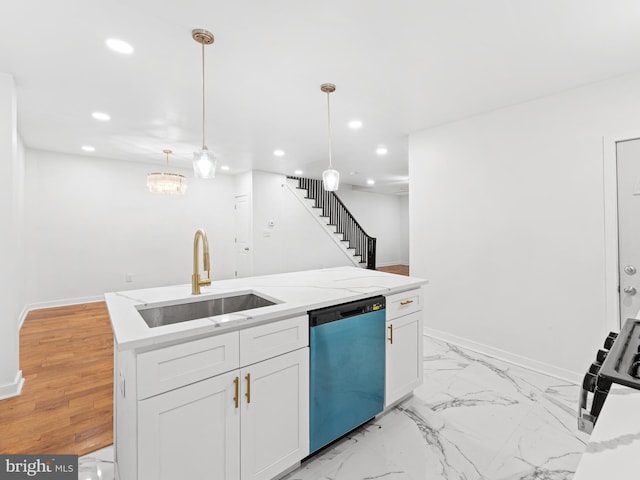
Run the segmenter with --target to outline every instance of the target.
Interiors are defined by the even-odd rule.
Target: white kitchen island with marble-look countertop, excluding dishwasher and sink
[[[105,295],[115,337],[116,476],[268,480],[309,454],[310,310],[384,295],[385,408],[422,381],[426,281],[354,267]],[[270,303],[151,327],[141,310]],[[384,335],[384,332],[381,332]]]

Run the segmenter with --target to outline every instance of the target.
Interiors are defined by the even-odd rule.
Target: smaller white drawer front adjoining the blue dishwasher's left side
[[[309,345],[309,317],[279,320],[240,331],[240,366]]]

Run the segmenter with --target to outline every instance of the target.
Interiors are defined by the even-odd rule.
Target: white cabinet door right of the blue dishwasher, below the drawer
[[[385,407],[422,383],[422,312],[387,321]]]

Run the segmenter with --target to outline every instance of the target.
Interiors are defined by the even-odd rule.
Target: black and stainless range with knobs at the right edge
[[[604,348],[582,381],[578,429],[591,433],[611,389],[618,383],[640,390],[640,320],[628,318],[619,334],[609,333]],[[590,400],[589,393],[593,396]]]

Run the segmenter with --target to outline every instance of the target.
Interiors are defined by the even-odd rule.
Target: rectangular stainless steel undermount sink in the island
[[[269,305],[275,305],[275,302],[253,293],[246,293],[171,305],[141,305],[136,308],[147,325],[155,328],[172,323],[187,322],[197,318],[215,317],[225,313],[268,307]]]

